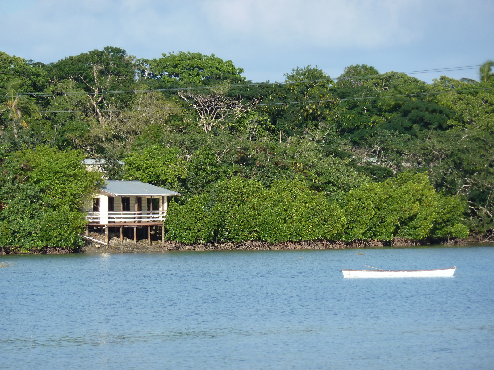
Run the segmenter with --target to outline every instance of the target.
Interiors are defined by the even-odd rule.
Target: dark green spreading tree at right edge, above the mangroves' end
[[[398,144],[395,160],[428,175],[437,191],[460,195],[467,201],[469,226],[480,233],[494,228],[494,138],[482,130],[422,132]]]

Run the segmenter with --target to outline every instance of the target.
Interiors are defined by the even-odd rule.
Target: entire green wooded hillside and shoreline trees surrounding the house
[[[252,84],[200,53],[0,53],[1,245],[79,243],[100,180],[82,156],[104,158],[107,179],[181,192],[167,228],[183,242],[490,235],[493,65],[478,81],[357,64]]]

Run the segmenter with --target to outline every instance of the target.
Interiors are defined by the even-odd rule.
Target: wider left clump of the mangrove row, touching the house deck
[[[337,239],[345,216],[335,202],[303,181],[275,181],[268,188],[235,177],[209,194],[170,205],[167,227],[173,240],[193,243]]]

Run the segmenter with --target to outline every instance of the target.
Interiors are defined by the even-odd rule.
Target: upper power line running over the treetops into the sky
[[[268,85],[288,85],[294,83],[302,82],[323,82],[323,81],[341,81],[341,80],[351,80],[351,79],[368,79],[372,77],[379,76],[390,76],[393,74],[424,74],[424,73],[437,73],[437,72],[452,72],[452,71],[464,71],[472,70],[480,67],[476,66],[463,66],[463,67],[449,67],[449,68],[437,68],[432,70],[419,70],[410,72],[386,72],[383,74],[368,74],[368,75],[358,75],[349,76],[341,78],[321,78],[321,79],[311,79],[311,80],[299,80],[299,81],[288,81],[288,82],[256,82],[256,83],[243,83],[243,84],[232,84],[228,85],[230,88],[234,87],[247,87],[247,86],[268,86]],[[160,91],[180,91],[180,90],[202,90],[202,89],[215,89],[222,88],[225,86],[193,86],[193,87],[174,87],[167,89],[143,89],[143,90],[113,90],[113,91],[101,91],[99,94],[124,94],[124,93],[139,93],[139,92],[160,92]],[[8,96],[9,94],[0,94],[0,96]],[[57,93],[21,93],[18,95],[33,96],[33,97],[44,97],[44,96],[65,96],[65,95],[95,95],[95,92],[91,91],[74,91],[74,92],[57,92]]]

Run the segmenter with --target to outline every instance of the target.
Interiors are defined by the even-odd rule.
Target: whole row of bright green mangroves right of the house
[[[168,236],[180,242],[412,240],[468,236],[464,204],[434,191],[422,174],[367,183],[331,201],[301,180],[265,188],[235,177],[184,204],[172,203]]]

